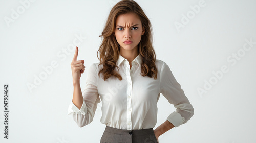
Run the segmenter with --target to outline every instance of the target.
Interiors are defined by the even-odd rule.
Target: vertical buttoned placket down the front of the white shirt
[[[132,69],[131,69],[132,70]],[[126,64],[126,75],[127,75],[127,130],[132,130],[132,79],[130,75],[130,65]]]

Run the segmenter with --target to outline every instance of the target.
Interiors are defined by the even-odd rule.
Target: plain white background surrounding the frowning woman
[[[99,35],[117,1],[22,2],[0,1],[0,142],[99,142],[105,129],[99,107],[93,122],[82,128],[67,115],[73,96],[72,44],[76,35],[86,37],[76,45],[78,60],[86,68],[99,62]],[[256,42],[256,1],[201,1],[197,13],[191,7],[200,6],[198,0],[136,2],[152,22],[157,59],[169,65],[195,108],[187,123],[164,133],[159,142],[255,142],[256,44],[249,46],[246,39]],[[184,23],[182,14],[189,21]],[[182,22],[183,27],[175,26]],[[52,62],[57,67],[35,83]],[[212,72],[223,66],[227,72],[218,79]],[[87,69],[82,90],[86,76]],[[207,90],[206,82],[212,86]],[[9,84],[9,139],[3,134],[4,84]],[[154,129],[173,111],[161,94]]]

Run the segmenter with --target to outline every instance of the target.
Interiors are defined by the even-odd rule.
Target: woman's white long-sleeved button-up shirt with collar
[[[103,80],[103,65],[93,63],[88,69],[86,87],[82,92],[83,104],[77,108],[71,101],[68,115],[73,115],[79,127],[93,121],[97,104],[102,101],[100,122],[117,129],[135,130],[154,128],[157,122],[157,102],[160,93],[173,104],[176,111],[169,114],[167,120],[175,127],[186,123],[194,114],[194,108],[174,78],[168,65],[156,59],[157,79],[141,76],[141,57],[132,61],[132,68],[127,59],[119,54],[117,66],[120,81],[114,76]],[[117,68],[114,69],[118,71]],[[102,77],[101,77],[102,76]]]

